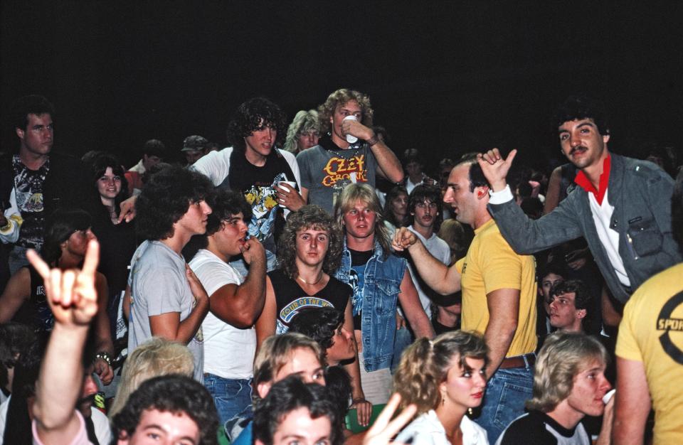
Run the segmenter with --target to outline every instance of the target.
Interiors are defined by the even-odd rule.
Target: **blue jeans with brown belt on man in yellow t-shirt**
[[[482,414],[475,422],[486,430],[494,444],[514,419],[524,414],[524,402],[531,399],[534,368],[499,369],[487,382]]]

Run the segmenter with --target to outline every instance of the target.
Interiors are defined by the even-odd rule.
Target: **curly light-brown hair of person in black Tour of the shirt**
[[[299,211],[292,213],[287,218],[287,224],[282,230],[280,240],[277,242],[277,262],[287,277],[295,279],[299,276],[297,263],[297,231],[314,228],[326,230],[329,236],[329,246],[322,269],[327,274],[332,274],[342,261],[342,248],[344,235],[334,219],[319,205],[305,205]]]

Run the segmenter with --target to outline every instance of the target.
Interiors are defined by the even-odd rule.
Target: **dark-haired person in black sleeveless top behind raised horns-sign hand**
[[[57,210],[46,220],[42,256],[51,267],[76,269],[85,258],[88,242],[95,238],[90,227],[90,215],[83,210]],[[107,279],[97,272],[97,315],[93,323],[95,350],[92,360],[95,372],[105,385],[114,377],[111,360],[114,353],[107,318]],[[46,300],[43,278],[31,266],[22,267],[12,275],[0,296],[0,323],[18,321],[37,333],[52,331],[54,316]]]

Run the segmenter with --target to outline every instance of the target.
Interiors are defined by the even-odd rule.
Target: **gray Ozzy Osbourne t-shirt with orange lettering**
[[[297,163],[301,185],[308,189],[308,203],[332,215],[334,203],[346,185],[358,182],[375,186],[377,161],[368,144],[345,150],[329,138],[320,144],[300,152]]]

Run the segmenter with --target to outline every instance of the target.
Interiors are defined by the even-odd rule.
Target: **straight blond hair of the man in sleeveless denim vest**
[[[384,225],[382,208],[379,198],[375,194],[375,189],[367,184],[351,183],[344,187],[344,190],[334,204],[334,219],[337,220],[339,227],[344,227],[344,213],[351,210],[356,205],[356,201],[365,203],[370,210],[375,213],[375,241],[381,245],[384,256],[391,254],[391,240],[389,230]],[[346,228],[344,228],[346,234]]]

